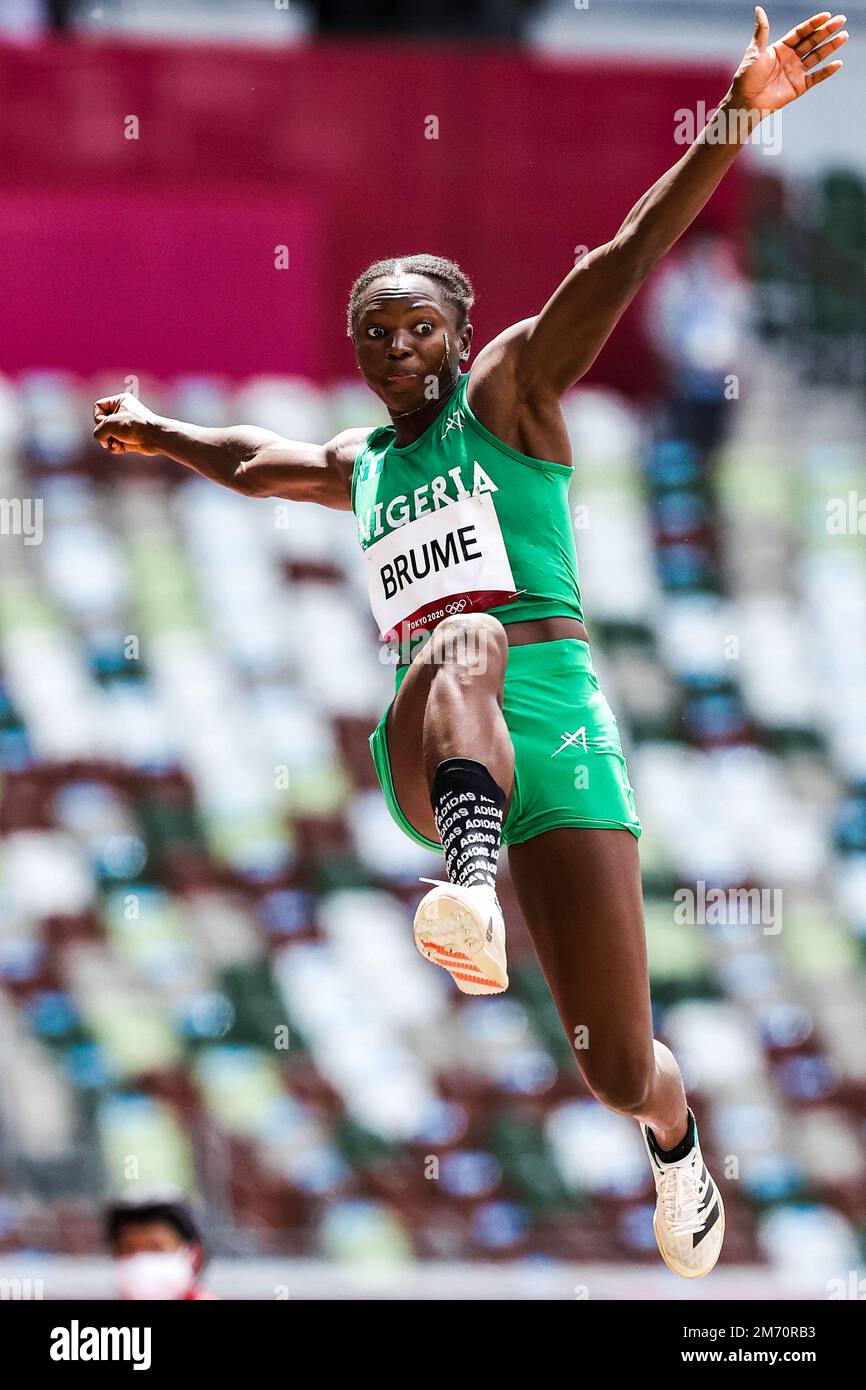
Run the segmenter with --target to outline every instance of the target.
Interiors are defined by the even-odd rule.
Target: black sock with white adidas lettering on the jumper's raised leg
[[[502,819],[507,801],[484,763],[446,758],[430,791],[450,883],[496,885]]]

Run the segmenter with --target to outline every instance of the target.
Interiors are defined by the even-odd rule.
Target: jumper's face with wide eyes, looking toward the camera
[[[471,324],[425,275],[374,279],[354,320],[357,364],[371,391],[393,414],[436,399],[468,356]]]

